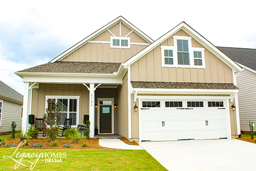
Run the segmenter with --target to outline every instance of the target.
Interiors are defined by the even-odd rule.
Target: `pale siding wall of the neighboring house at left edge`
[[[20,116],[22,113],[22,105],[4,100],[2,107],[2,128],[0,126],[0,132],[12,131],[12,121],[15,121],[17,124],[16,131],[21,130],[22,119]]]

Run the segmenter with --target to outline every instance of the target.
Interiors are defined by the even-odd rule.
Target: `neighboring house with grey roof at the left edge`
[[[22,109],[23,95],[0,81],[0,132],[12,131],[12,121],[22,128]]]

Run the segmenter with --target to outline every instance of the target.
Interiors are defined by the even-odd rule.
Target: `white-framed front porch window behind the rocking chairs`
[[[64,124],[65,118],[72,118],[72,125],[79,123],[79,96],[47,96],[46,99],[59,104],[60,125]]]

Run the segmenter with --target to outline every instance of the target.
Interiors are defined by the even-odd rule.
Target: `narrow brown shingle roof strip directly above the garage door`
[[[133,88],[145,89],[219,89],[238,90],[232,83],[141,82],[131,81]]]

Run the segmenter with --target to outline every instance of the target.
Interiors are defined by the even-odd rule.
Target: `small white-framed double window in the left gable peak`
[[[111,48],[124,48],[130,49],[130,37],[110,37],[111,38]]]

